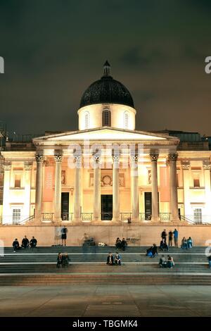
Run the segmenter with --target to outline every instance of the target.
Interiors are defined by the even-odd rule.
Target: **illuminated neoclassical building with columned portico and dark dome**
[[[77,114],[79,130],[1,150],[2,224],[210,223],[208,142],[136,130],[132,96],[108,62]]]

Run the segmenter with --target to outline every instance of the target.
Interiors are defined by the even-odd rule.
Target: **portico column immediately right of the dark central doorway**
[[[113,155],[113,222],[120,221],[120,156]]]

